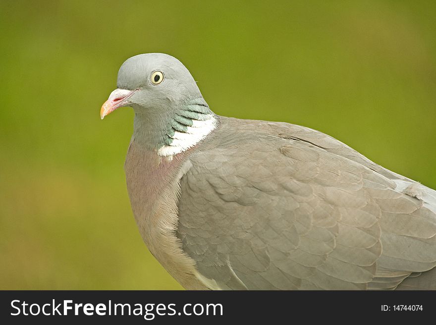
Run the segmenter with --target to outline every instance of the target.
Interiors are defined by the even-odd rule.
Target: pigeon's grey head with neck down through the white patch
[[[133,137],[162,156],[194,146],[217,125],[191,73],[168,54],[139,54],[121,65],[101,118],[126,106],[135,111]]]

